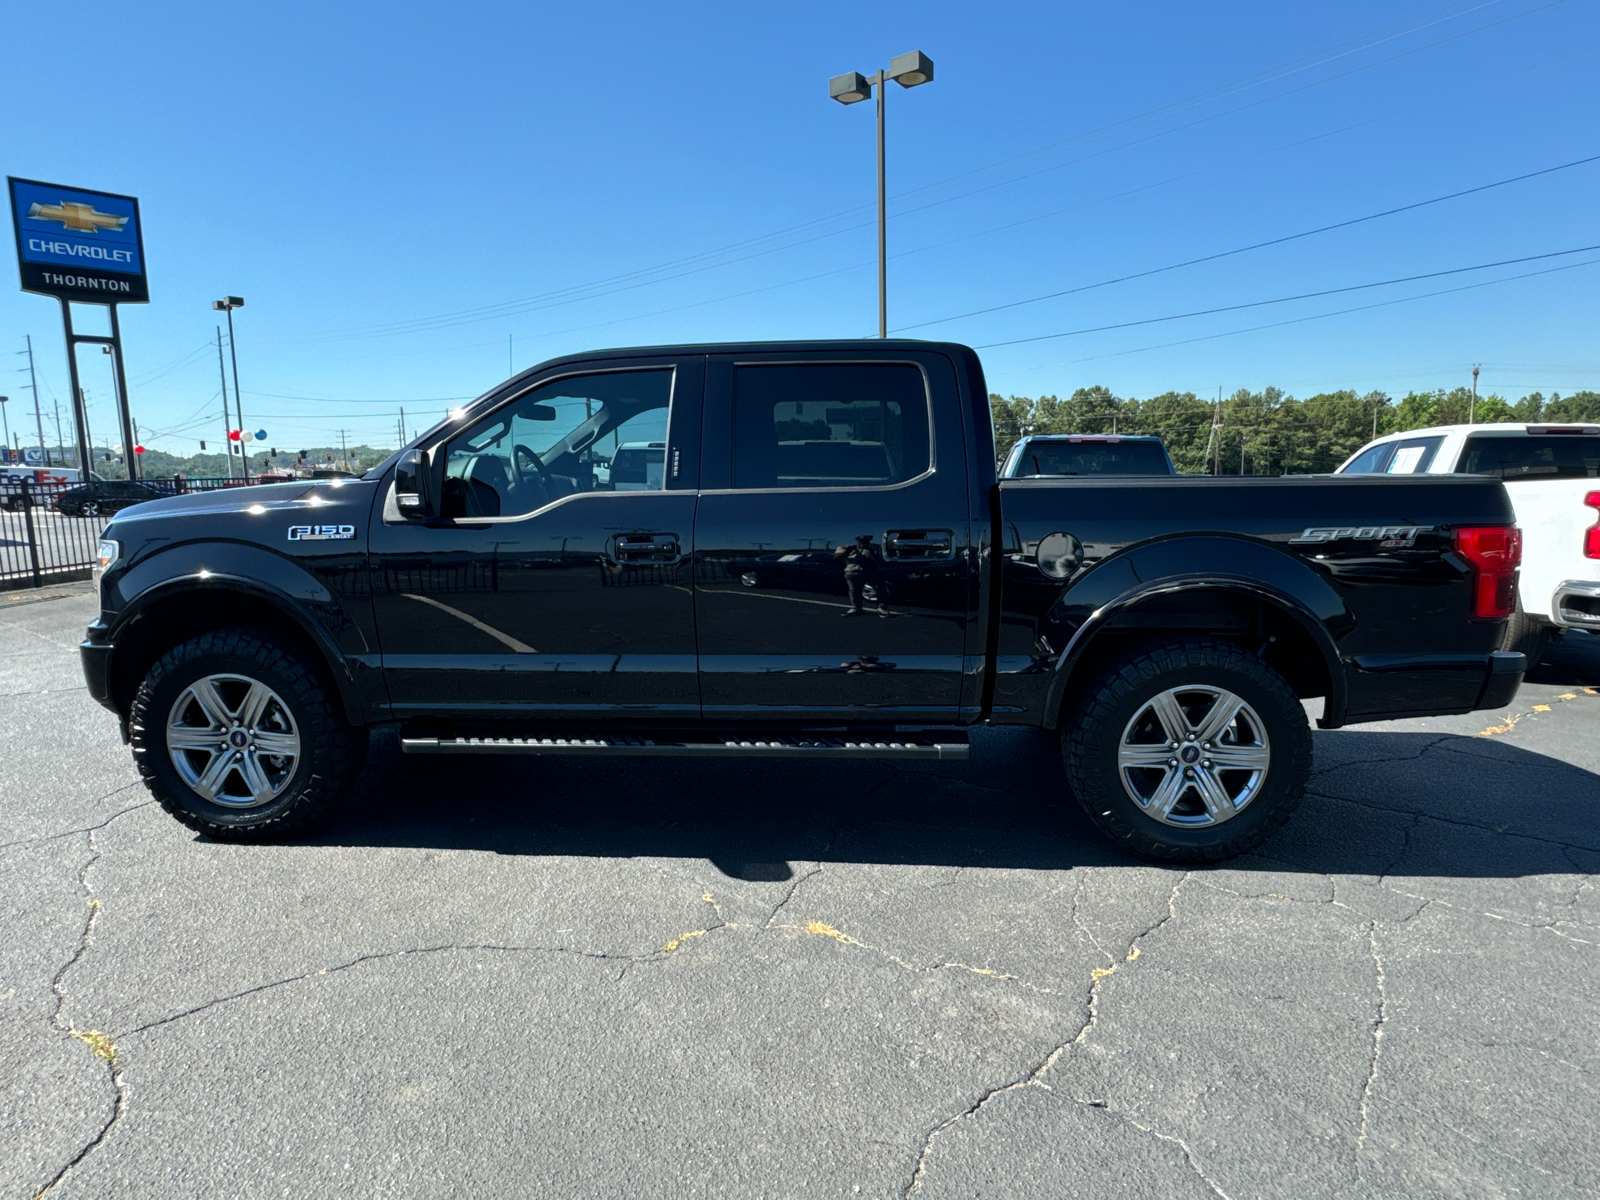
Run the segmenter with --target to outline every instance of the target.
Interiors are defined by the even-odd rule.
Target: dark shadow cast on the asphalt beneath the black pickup
[[[1517,877],[1600,870],[1600,776],[1504,741],[1318,733],[1288,827],[1235,869]],[[317,845],[518,856],[709,859],[786,880],[795,864],[1066,870],[1131,866],[1067,792],[1056,742],[981,730],[968,763],[411,758],[378,736]]]

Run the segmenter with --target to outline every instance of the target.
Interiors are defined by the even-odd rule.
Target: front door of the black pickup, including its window
[[[389,496],[371,533],[397,717],[699,715],[704,362],[562,368],[427,446],[442,517],[406,520]]]

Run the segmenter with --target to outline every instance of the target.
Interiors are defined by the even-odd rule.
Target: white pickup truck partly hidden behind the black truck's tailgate
[[[1368,442],[1339,474],[1499,475],[1523,538],[1504,648],[1531,667],[1566,629],[1600,632],[1600,426],[1408,429]]]

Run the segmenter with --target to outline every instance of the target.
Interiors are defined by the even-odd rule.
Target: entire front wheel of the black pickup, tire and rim
[[[306,829],[349,790],[365,730],[299,650],[264,629],[202,634],[163,654],[133,701],[133,757],[190,829],[266,842]]]

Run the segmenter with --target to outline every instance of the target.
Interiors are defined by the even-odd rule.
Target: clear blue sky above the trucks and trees
[[[91,2],[14,11],[8,40],[50,51],[10,56],[5,173],[141,198],[128,376],[176,453],[221,434],[224,293],[246,422],[280,446],[392,445],[402,405],[430,424],[509,360],[874,333],[872,109],[827,78],[912,48],[936,78],[888,98],[890,328],[990,346],[992,390],[1403,395],[1472,363],[1485,392],[1600,387],[1600,266],[1571,266],[1600,251],[1048,338],[1597,245],[1600,162],[926,323],[1600,155],[1594,0]],[[10,278],[18,429],[13,352],[34,336],[46,421],[66,352],[54,301]],[[106,442],[106,360],[82,360]]]

